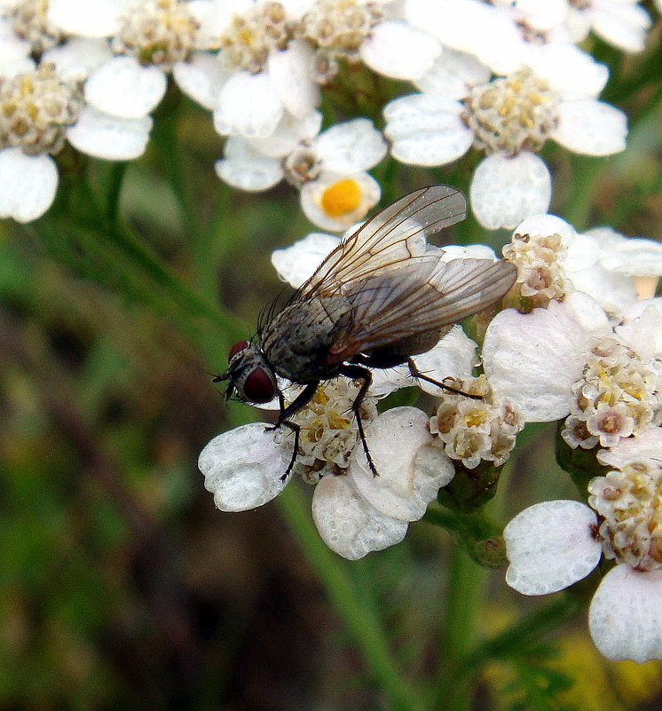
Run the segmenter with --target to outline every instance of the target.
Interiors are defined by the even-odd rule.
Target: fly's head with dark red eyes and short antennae
[[[244,402],[264,405],[278,392],[278,384],[273,369],[264,358],[264,353],[256,344],[240,341],[234,344],[228,354],[228,367],[214,382],[229,380],[225,399],[237,398]]]

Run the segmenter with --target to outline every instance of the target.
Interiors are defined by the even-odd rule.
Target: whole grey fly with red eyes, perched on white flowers
[[[229,365],[215,381],[229,380],[226,398],[264,404],[278,396],[282,425],[313,397],[321,381],[344,375],[359,381],[352,404],[367,462],[377,475],[359,416],[372,382],[371,368],[407,363],[415,378],[445,387],[422,374],[412,356],[430,351],[459,320],[498,301],[516,279],[515,265],[501,259],[445,261],[441,250],[426,251],[426,237],[464,219],[467,203],[453,187],[416,190],[382,209],[342,241],[296,290],[258,325],[259,344],[232,346]],[[280,375],[303,390],[289,405]],[[452,388],[447,388],[452,390]]]

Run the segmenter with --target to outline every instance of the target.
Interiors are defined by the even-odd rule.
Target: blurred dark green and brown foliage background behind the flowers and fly
[[[662,78],[630,85],[659,72],[659,32],[635,60],[603,52],[630,146],[606,161],[548,146],[553,210],[662,239]],[[173,91],[142,160],[61,154],[53,209],[0,225],[0,709],[450,708],[428,683],[458,663],[445,623],[466,589],[485,604],[460,646],[496,640],[465,660],[473,707],[662,708],[657,662],[608,663],[587,636],[596,575],[526,599],[426,522],[347,563],[315,542],[299,482],[259,510],[215,509],[197,456],[256,413],[225,406],[211,375],[282,288],[271,250],[311,232],[288,186],[222,185],[221,146]],[[471,167],[387,161],[375,175],[388,198],[433,182],[466,192]],[[458,236],[508,239],[470,218]],[[554,438],[527,430],[492,505],[501,523],[576,496]]]

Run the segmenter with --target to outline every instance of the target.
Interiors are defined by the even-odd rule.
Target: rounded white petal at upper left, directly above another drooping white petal
[[[134,57],[114,57],[85,83],[85,99],[106,114],[142,118],[163,98],[166,75],[159,67],[143,67]]]

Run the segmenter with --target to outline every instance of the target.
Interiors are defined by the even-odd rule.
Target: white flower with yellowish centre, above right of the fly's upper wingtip
[[[556,55],[557,48],[552,50]],[[390,101],[384,107],[384,134],[392,142],[391,153],[414,165],[444,165],[471,146],[485,151],[471,179],[470,198],[478,221],[490,229],[514,227],[547,211],[551,175],[536,153],[547,138],[578,153],[607,155],[625,148],[627,134],[626,115],[592,95],[606,76],[596,81],[589,73],[586,81],[563,85],[556,82],[557,69],[550,70],[558,66],[581,75],[573,72],[579,67],[574,61],[551,62],[544,74],[525,68],[474,85],[463,101],[438,93]]]

